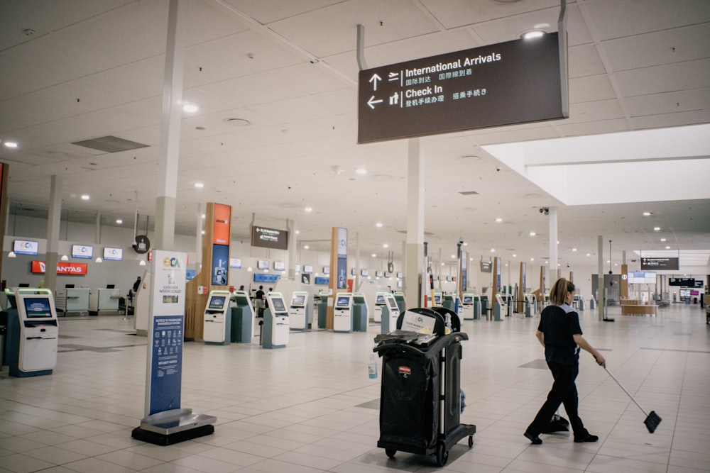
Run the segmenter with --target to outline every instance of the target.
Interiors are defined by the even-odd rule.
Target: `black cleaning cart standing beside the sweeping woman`
[[[452,333],[445,333],[449,318]],[[461,424],[460,321],[445,308],[405,311],[392,333],[378,335],[373,351],[382,357],[380,439],[388,457],[400,450],[436,455],[443,467],[449,450],[468,436],[473,446],[476,425]],[[430,335],[417,333],[428,328]]]

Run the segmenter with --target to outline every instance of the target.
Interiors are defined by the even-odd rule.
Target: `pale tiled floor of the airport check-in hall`
[[[432,457],[378,449],[380,379],[368,379],[368,333],[292,333],[284,350],[186,343],[182,407],[217,416],[215,432],[158,447],[131,438],[143,417],[146,340],[122,316],[61,320],[50,376],[0,372],[0,472],[708,472],[710,325],[699,306],[656,317],[581,313],[584,335],[647,411],[645,416],[583,352],[581,416],[597,443],[523,430],[551,380],[533,333],[537,318],[464,321],[461,421],[477,425],[474,447]],[[541,369],[542,368],[542,369]],[[369,404],[367,404],[369,403]],[[365,406],[361,406],[365,404]],[[375,407],[375,408],[372,408]],[[564,415],[564,411],[561,412]]]

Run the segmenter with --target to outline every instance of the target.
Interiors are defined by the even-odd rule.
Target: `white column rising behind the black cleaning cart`
[[[407,307],[421,307],[419,280],[424,272],[424,156],[419,138],[411,138],[407,166],[407,240],[403,289]]]

